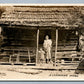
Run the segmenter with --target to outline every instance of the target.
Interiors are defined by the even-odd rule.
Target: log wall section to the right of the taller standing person
[[[54,33],[53,33],[54,32]],[[52,59],[54,60],[55,52],[55,31],[52,31]],[[57,58],[58,60],[72,61],[72,56],[74,52],[76,55],[76,48],[78,43],[78,36],[76,35],[76,30],[59,30],[58,31],[58,48],[57,48]]]

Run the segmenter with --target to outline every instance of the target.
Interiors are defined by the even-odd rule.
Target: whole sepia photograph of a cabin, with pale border
[[[0,4],[0,80],[84,80],[84,5]]]

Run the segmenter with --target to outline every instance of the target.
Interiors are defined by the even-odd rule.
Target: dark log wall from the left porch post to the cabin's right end
[[[45,36],[48,35],[52,39],[52,60],[55,59],[55,44],[56,44],[56,31],[55,29],[40,29],[39,33],[39,48],[43,47]],[[72,60],[70,55],[71,52],[76,52],[78,43],[78,36],[76,36],[76,30],[58,30],[58,47],[57,56],[58,59]],[[71,53],[71,54],[70,54]],[[63,56],[65,55],[65,58]],[[60,58],[59,58],[60,57]],[[69,59],[70,58],[70,59]]]

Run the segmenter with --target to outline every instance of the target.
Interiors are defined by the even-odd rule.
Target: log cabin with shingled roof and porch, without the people
[[[39,63],[45,36],[52,39],[52,61],[76,64],[83,32],[82,6],[6,6],[0,18],[0,62]]]

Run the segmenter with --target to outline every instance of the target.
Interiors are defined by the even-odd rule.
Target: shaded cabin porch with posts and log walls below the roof
[[[0,62],[35,64],[40,63],[38,51],[43,47],[46,35],[52,39],[51,66],[76,66],[81,56],[77,54],[78,36],[75,29],[56,29],[55,27],[3,27],[3,44]]]

